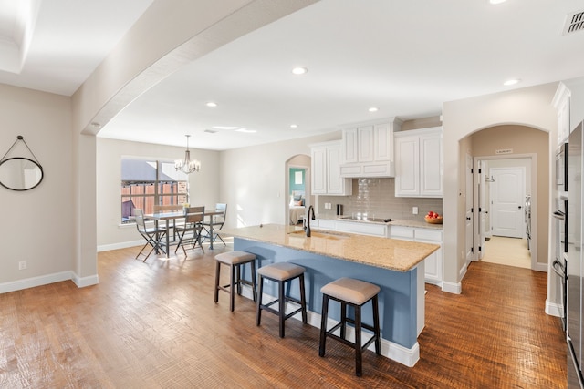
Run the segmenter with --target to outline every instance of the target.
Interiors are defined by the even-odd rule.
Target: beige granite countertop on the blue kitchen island
[[[315,230],[307,238],[301,227],[266,224],[221,230],[221,235],[308,251],[391,271],[411,271],[440,248],[437,244]]]

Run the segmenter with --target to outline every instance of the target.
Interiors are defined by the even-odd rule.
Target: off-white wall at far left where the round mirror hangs
[[[0,85],[0,123],[0,156],[22,135],[45,173],[35,189],[0,187],[0,292],[23,289],[32,277],[72,278],[76,200],[70,98]],[[32,159],[22,142],[7,157]],[[18,261],[26,261],[27,269],[19,271]]]

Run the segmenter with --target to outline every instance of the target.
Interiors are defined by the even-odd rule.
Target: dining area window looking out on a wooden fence
[[[173,161],[121,159],[121,222],[133,222],[134,209],[153,213],[154,205],[188,202],[188,180]]]

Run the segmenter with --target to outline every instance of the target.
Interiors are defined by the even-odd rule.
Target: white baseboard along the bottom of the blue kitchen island
[[[242,287],[242,296],[253,300],[252,289],[248,285],[243,285]],[[266,301],[269,302],[269,299],[274,299],[274,296],[270,296],[264,293],[264,297],[267,299]],[[297,321],[302,321],[302,313],[298,312],[294,316],[293,319]],[[319,313],[308,311],[307,312],[307,322],[313,327],[320,328],[320,321],[321,316]],[[337,324],[338,322],[328,319],[328,328],[331,328],[333,325]],[[351,342],[355,342],[355,329],[353,327],[347,327],[347,336]],[[362,339],[369,339],[370,333],[363,332]],[[375,351],[375,344],[370,344],[369,350]],[[419,360],[420,360],[420,344],[415,343],[411,349],[407,347],[403,347],[400,344],[392,343],[386,339],[381,338],[381,355],[385,356],[386,358],[390,358],[395,362],[399,362],[404,364],[408,367],[413,367]]]

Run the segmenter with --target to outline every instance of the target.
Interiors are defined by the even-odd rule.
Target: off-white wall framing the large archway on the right
[[[444,171],[450,172],[444,175],[443,198],[445,290],[461,292],[461,280],[465,273],[465,187],[464,179],[461,179],[459,174],[461,171],[459,142],[483,128],[518,124],[550,132],[552,139],[550,143],[555,144],[553,139],[556,137],[558,116],[551,106],[551,100],[557,87],[557,83],[551,83],[444,103]],[[550,145],[550,155],[552,149],[555,147],[552,148]],[[551,169],[551,162],[549,168]],[[551,210],[551,203],[548,204],[548,210]]]

